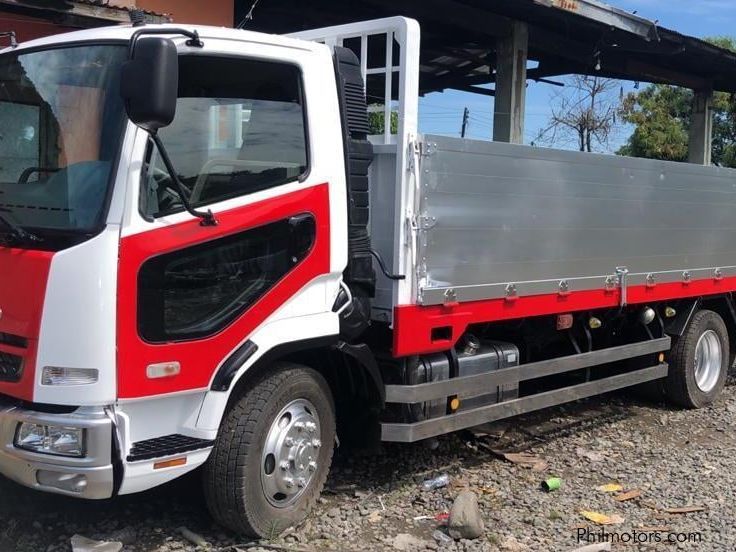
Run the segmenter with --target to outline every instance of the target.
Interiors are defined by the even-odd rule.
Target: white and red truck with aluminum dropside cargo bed
[[[336,427],[413,442],[637,385],[711,404],[736,173],[420,135],[418,81],[404,18],[0,51],[0,473],[103,499],[203,467],[214,517],[267,535]]]

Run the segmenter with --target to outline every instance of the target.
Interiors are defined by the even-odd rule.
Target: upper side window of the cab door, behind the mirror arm
[[[182,56],[173,123],[159,135],[193,206],[300,178],[307,139],[299,69],[288,63]],[[182,209],[155,148],[141,190],[141,213]]]

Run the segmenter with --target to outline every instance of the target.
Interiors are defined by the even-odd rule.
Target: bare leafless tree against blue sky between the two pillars
[[[575,144],[580,151],[607,149],[619,109],[618,81],[575,75],[552,99],[549,125],[537,141],[549,145]]]

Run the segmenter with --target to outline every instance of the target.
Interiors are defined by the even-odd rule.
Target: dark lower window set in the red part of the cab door
[[[167,253],[138,273],[138,331],[161,343],[214,335],[268,292],[314,244],[303,214]]]

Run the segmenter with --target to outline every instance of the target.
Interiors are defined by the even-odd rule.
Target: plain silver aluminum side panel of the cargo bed
[[[418,302],[736,274],[736,171],[425,136]],[[686,276],[685,276],[686,277]]]

